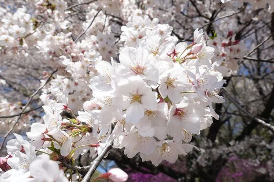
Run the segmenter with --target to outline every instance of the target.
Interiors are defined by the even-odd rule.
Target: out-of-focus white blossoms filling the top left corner
[[[0,55],[5,58],[23,54],[28,56],[27,50],[33,48],[38,40],[46,36],[46,29],[40,29],[46,21],[52,21],[54,29],[68,28],[65,20],[67,3],[63,0],[33,0],[37,7],[36,14],[44,17],[36,20],[29,13],[27,7],[18,8],[15,13],[0,8]],[[52,32],[47,32],[52,33]]]

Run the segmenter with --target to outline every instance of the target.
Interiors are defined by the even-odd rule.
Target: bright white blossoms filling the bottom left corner
[[[44,154],[36,157],[35,147],[14,135],[16,139],[7,142],[8,155],[0,158],[0,167],[6,171],[1,182],[68,182],[57,162]]]

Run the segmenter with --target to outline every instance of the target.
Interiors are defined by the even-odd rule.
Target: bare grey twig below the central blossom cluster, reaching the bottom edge
[[[103,149],[103,151],[100,154],[98,154],[98,156],[95,158],[94,161],[91,162],[91,167],[81,182],[89,182],[90,181],[91,176],[97,169],[100,162],[104,159],[104,157],[106,156],[108,151],[110,151],[112,149],[112,145],[113,145],[113,140],[109,141],[107,143],[107,145],[105,146],[105,148]]]

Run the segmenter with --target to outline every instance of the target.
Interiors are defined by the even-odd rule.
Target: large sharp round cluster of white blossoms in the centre
[[[212,103],[224,102],[218,93],[225,81],[210,61],[214,48],[206,46],[198,29],[190,45],[175,44],[169,25],[146,17],[122,30],[128,47],[121,49],[120,63],[95,65],[94,99],[85,102],[78,119],[104,128],[100,135],[114,139],[114,147],[125,147],[130,158],[139,153],[155,165],[175,162],[192,150],[187,143],[192,135],[208,127],[211,116],[218,119]]]

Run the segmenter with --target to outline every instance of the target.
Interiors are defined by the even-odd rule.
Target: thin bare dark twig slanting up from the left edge
[[[0,150],[2,150],[2,148],[3,148],[3,146],[4,146],[4,143],[5,143],[6,139],[7,139],[7,136],[12,132],[12,130],[14,129],[15,125],[19,122],[19,120],[21,119],[21,116],[23,115],[25,109],[28,107],[28,105],[29,105],[30,102],[32,101],[33,97],[34,97],[36,94],[38,94],[38,92],[39,92],[40,90],[42,90],[42,89],[44,88],[44,86],[50,81],[50,78],[52,77],[52,75],[53,75],[54,73],[57,72],[57,70],[58,70],[58,69],[56,69],[55,71],[53,71],[53,72],[51,73],[51,75],[48,77],[48,79],[46,80],[46,82],[45,82],[42,86],[40,86],[40,87],[39,87],[39,88],[30,96],[30,98],[28,99],[26,105],[23,107],[23,109],[22,109],[21,112],[19,113],[19,116],[18,116],[17,120],[13,123],[12,127],[10,128],[10,130],[9,130],[9,131],[5,134],[5,136],[3,137],[4,140],[3,140],[3,142],[1,143]]]

